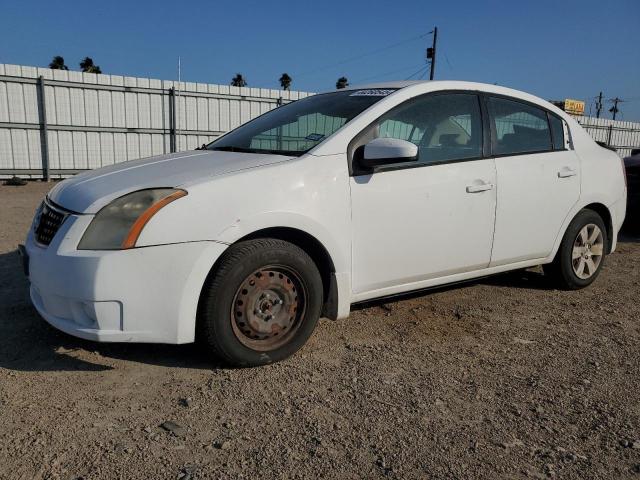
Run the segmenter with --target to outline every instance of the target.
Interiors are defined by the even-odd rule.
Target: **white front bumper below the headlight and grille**
[[[37,244],[30,231],[25,245],[30,294],[40,315],[88,340],[192,342],[200,291],[227,246],[200,241],[76,250],[90,220],[69,216],[48,247]]]

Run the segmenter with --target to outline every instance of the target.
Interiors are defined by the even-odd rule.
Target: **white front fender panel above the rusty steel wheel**
[[[179,188],[188,195],[152,217],[137,246],[201,240],[231,244],[264,228],[290,227],[320,241],[336,271],[350,270],[344,155],[305,155]]]

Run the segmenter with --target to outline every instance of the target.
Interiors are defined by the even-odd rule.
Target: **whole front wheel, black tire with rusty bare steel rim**
[[[252,286],[247,282],[253,282]],[[247,292],[245,286],[252,290]],[[262,300],[265,296],[268,300]],[[223,254],[203,289],[198,340],[233,366],[283,360],[298,351],[313,333],[322,298],[320,272],[301,248],[272,238],[234,244]],[[264,311],[263,305],[268,305]],[[280,310],[273,313],[276,308]]]

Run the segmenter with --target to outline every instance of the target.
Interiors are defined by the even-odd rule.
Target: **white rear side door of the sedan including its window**
[[[535,105],[486,97],[497,172],[491,266],[543,258],[580,196],[564,122]]]

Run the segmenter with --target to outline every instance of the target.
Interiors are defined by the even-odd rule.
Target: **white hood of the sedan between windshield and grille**
[[[136,190],[179,187],[291,158],[294,157],[219,151],[172,153],[81,173],[60,182],[48,197],[72,212],[97,213],[112,200]]]

